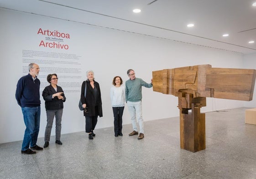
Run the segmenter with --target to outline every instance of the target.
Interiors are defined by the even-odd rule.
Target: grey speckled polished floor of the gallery
[[[22,141],[0,144],[0,179],[256,179],[256,125],[245,109],[206,113],[206,149],[180,148],[179,117],[147,121],[145,138],[112,128],[54,136],[35,155],[22,155]],[[38,138],[43,146],[43,138]]]

